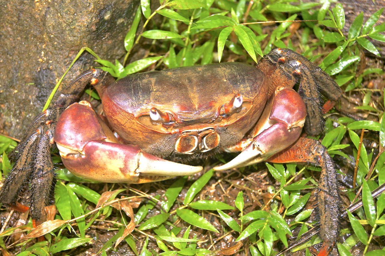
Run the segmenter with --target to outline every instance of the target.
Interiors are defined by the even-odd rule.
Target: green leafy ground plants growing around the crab
[[[350,201],[357,201],[355,197],[362,189],[360,197],[364,207],[353,214],[348,213],[351,226],[343,226],[341,234],[345,236],[345,242],[337,245],[339,253],[352,255],[351,250],[357,247],[365,255],[384,255],[384,244],[378,242],[383,238],[376,237],[385,235],[385,195],[373,199],[370,194],[385,183],[383,88],[362,86],[368,79],[383,75],[383,67],[367,67],[361,62],[363,50],[379,55],[368,38],[385,42],[385,36],[381,34],[385,31],[385,24],[375,25],[383,8],[373,13],[365,23],[363,13],[358,15],[344,35],[343,8],[336,4],[330,9],[328,1],[321,5],[293,5],[284,0],[246,5],[244,0],[174,0],[161,1],[155,12],[151,12],[149,1],[142,0],[141,3],[125,38],[127,55],[124,59],[115,63],[97,60],[104,65],[105,71],[117,78],[148,70],[149,67],[163,69],[218,61],[255,64],[263,54],[281,47],[299,51],[318,63],[346,92],[345,99],[360,102],[355,110],[368,120],[355,121],[338,114],[328,114],[325,136],[320,139],[332,157],[340,155],[339,159],[345,157],[353,163],[358,158],[357,186],[345,188],[341,193]],[[298,13],[310,21],[295,22],[300,25],[295,28],[290,21],[297,20]],[[146,21],[140,27],[142,16]],[[161,22],[155,23],[154,17]],[[148,29],[150,26],[151,29]],[[146,56],[129,63],[131,51],[143,40],[150,45]],[[14,141],[0,137],[3,174],[10,167],[7,154],[14,147]],[[338,164],[343,164],[343,160],[338,161],[341,161]],[[300,236],[316,226],[316,221],[311,218],[313,210],[305,205],[311,199],[311,188],[317,186],[317,173],[313,172],[317,169],[266,163],[266,171],[266,168],[261,169],[263,166],[258,165],[259,175],[269,174],[279,183],[259,184],[264,187],[259,192],[255,181],[246,177],[254,168],[248,167],[228,172],[227,175],[210,170],[200,177],[181,177],[171,183],[166,182],[158,185],[160,191],[165,191],[164,196],[155,196],[156,189],[149,189],[149,186],[146,191],[150,192],[146,194],[124,184],[121,185],[123,189],[117,184],[109,184],[107,189],[100,185],[100,191],[107,191],[101,195],[90,187],[76,183],[80,179],[71,176],[65,169],[59,170],[59,178],[68,182],[59,180],[56,185],[57,220],[47,223],[45,231],[30,233],[28,238],[31,240],[44,235],[46,241],[30,246],[29,240],[22,240],[6,248],[7,237],[15,231],[9,228],[0,234],[0,246],[7,251],[21,252],[20,256],[50,255],[87,243],[95,244],[97,238],[89,237],[90,228],[105,225],[105,229],[114,232],[114,236],[99,246],[101,255],[118,250],[119,247],[114,249],[114,246],[122,239],[130,247],[126,250],[141,256],[214,255],[221,249],[221,243],[229,247],[222,248],[222,253],[227,255],[238,250],[241,254],[247,251],[253,256],[275,255],[290,244],[288,238],[293,231]],[[241,178],[242,181],[239,180]],[[238,186],[237,182],[241,185]],[[226,189],[212,191],[221,186]],[[234,199],[229,196],[232,188],[236,191],[236,195],[232,195]],[[116,199],[119,193],[137,196]],[[218,198],[223,200],[218,201]],[[133,210],[140,202],[139,208]],[[266,205],[260,205],[261,202]],[[32,224],[28,223],[20,228],[29,231],[31,227]],[[71,230],[75,233],[64,235]],[[139,237],[146,238],[139,243]],[[306,255],[310,255],[307,246],[319,242],[313,237],[294,250],[305,248]],[[157,243],[160,250],[149,246],[151,243]],[[127,244],[123,246],[127,247]]]

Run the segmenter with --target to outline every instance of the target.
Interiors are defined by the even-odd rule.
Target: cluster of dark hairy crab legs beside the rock
[[[56,121],[68,105],[78,100],[79,94],[87,84],[104,84],[108,79],[110,77],[100,69],[82,73],[59,95],[51,108],[35,118],[25,132],[28,135],[11,156],[16,162],[0,190],[0,201],[3,204],[11,207],[17,205],[16,201],[24,190],[24,184],[30,182],[28,194],[32,205],[31,217],[36,225],[46,220],[44,206],[53,202],[55,184],[54,166],[49,149],[54,146],[52,137]]]

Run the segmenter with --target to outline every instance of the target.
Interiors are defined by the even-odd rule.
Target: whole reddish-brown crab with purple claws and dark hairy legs
[[[300,80],[299,92],[292,87]],[[97,89],[104,115],[77,102],[87,84]],[[194,159],[240,152],[216,171],[261,161],[321,167],[320,237],[330,247],[339,233],[336,170],[326,148],[300,137],[323,131],[321,94],[332,102],[338,85],[319,67],[289,49],[275,49],[256,67],[219,63],[129,75],[117,82],[100,69],[84,72],[28,129],[16,149],[0,200],[15,206],[26,181],[38,223],[55,182],[50,146],[64,166],[84,179],[143,183],[191,175]],[[307,116],[307,117],[306,117]],[[328,247],[325,247],[328,248]]]

